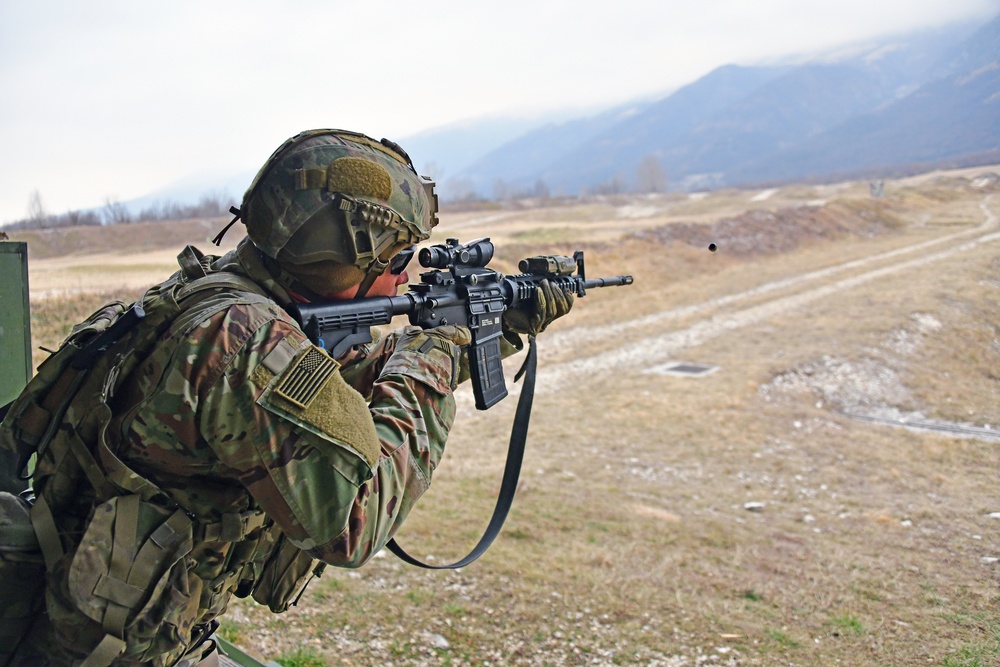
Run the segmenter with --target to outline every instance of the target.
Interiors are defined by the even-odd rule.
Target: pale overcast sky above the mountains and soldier
[[[595,109],[722,64],[997,13],[1000,0],[3,0],[0,222],[25,217],[36,189],[63,213],[256,169],[307,128],[399,139]]]

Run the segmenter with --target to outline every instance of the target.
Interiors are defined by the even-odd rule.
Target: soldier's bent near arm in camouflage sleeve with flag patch
[[[424,334],[414,334],[420,336]],[[261,327],[206,393],[201,430],[299,547],[356,567],[430,484],[454,420],[454,348],[401,339],[367,401],[294,325]],[[398,352],[398,353],[396,353]]]

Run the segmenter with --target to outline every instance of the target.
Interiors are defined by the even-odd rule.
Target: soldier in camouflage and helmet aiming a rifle
[[[189,246],[136,305],[76,327],[4,420],[0,448],[38,452],[47,584],[30,630],[0,632],[0,662],[213,664],[232,595],[284,611],[317,568],[367,561],[427,490],[469,331],[373,332],[335,360],[282,307],[395,295],[437,224],[432,184],[392,142],[315,130],[271,156],[239,217],[234,251]],[[505,354],[572,305],[538,292],[505,313]],[[116,342],[81,362],[109,324]]]

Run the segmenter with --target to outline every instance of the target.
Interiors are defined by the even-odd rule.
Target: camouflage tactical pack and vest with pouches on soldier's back
[[[74,327],[0,424],[0,449],[18,472],[33,467],[34,491],[33,499],[0,494],[0,665],[38,617],[46,574],[44,607],[60,644],[84,652],[96,644],[88,664],[124,654],[166,667],[207,637],[196,621],[221,613],[234,591],[284,611],[319,569],[259,510],[194,518],[105,438],[115,390],[158,341],[233,305],[269,301],[250,279],[213,271],[212,260],[188,246],[170,279]],[[192,309],[196,318],[179,318]],[[230,553],[211,581],[192,572],[206,542]]]

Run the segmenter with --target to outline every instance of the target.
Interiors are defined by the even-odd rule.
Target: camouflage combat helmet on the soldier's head
[[[310,130],[264,163],[240,217],[254,245],[280,264],[327,261],[377,275],[392,250],[430,237],[437,196],[395,143]]]

